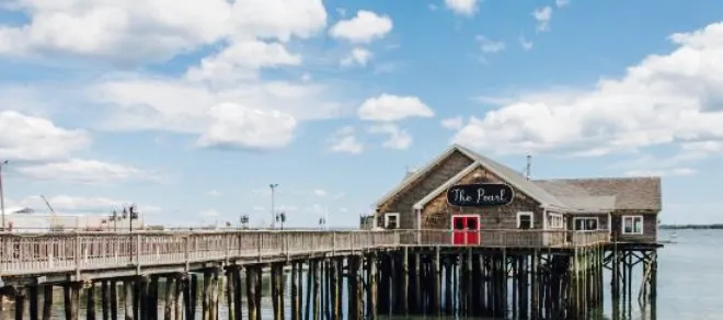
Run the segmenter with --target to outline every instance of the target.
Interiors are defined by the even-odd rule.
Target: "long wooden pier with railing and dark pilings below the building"
[[[613,299],[629,299],[641,261],[640,299],[655,297],[654,245],[607,230],[474,232],[468,245],[451,230],[5,233],[0,294],[31,320],[50,319],[55,287],[72,320],[218,320],[222,300],[225,319],[262,319],[267,288],[274,319],[581,319],[601,306],[606,270]]]

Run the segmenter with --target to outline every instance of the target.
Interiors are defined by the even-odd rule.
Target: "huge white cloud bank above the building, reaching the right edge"
[[[619,79],[518,96],[472,116],[454,140],[500,152],[588,156],[673,142],[714,147],[723,141],[723,23],[670,39],[674,52],[651,55]]]

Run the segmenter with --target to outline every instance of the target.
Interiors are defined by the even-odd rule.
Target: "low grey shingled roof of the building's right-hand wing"
[[[657,176],[555,179],[533,182],[565,202],[582,198],[589,202],[597,198],[594,199],[597,205],[612,202],[612,209],[659,212],[662,208],[661,178]]]

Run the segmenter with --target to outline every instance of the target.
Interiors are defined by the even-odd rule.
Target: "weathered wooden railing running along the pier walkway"
[[[607,231],[482,230],[473,233],[479,242],[467,245],[572,248],[609,240]],[[450,230],[0,233],[0,276],[187,266],[236,259],[261,261],[402,245],[456,245],[454,237]]]

